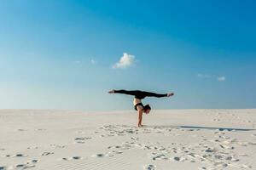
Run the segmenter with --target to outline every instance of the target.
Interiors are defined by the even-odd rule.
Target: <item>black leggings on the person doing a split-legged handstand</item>
[[[162,98],[167,97],[167,94],[154,94],[151,92],[144,92],[140,90],[114,90],[115,94],[128,94],[135,96],[136,99],[144,99],[145,97],[156,97],[156,98]]]

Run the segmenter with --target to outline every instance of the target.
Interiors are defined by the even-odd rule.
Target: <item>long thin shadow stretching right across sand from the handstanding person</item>
[[[219,131],[253,131],[256,129],[252,128],[235,128],[235,127],[197,127],[197,126],[172,126],[172,125],[163,125],[163,126],[145,126],[145,127],[154,127],[154,128],[188,128],[188,129],[207,129],[207,130],[219,130]]]

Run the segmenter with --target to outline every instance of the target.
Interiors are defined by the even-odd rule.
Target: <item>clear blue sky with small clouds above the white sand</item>
[[[256,108],[252,1],[0,2],[0,108]],[[123,57],[123,58],[122,58]],[[121,60],[120,60],[121,59]]]

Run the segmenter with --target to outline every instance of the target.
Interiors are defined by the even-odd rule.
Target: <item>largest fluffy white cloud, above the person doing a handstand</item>
[[[113,69],[124,69],[134,64],[135,61],[136,60],[134,55],[124,53],[123,56],[119,59],[119,62],[113,65]]]

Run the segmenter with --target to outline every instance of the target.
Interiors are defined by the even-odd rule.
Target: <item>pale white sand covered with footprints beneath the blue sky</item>
[[[256,110],[0,111],[0,170],[256,169]],[[253,129],[253,130],[252,130]]]

